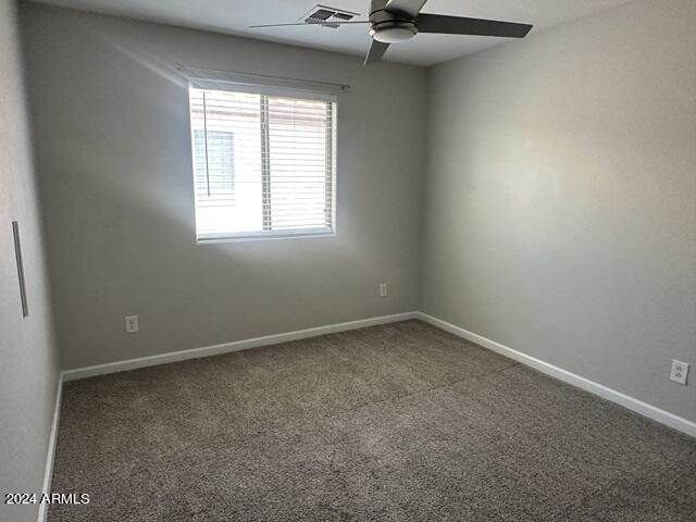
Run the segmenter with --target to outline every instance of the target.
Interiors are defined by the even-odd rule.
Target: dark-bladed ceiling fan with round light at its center
[[[421,13],[421,9],[423,9],[426,1],[427,0],[371,0],[370,20],[332,21],[331,24],[370,24],[372,45],[365,57],[365,65],[378,62],[391,44],[413,38],[418,33],[524,38],[532,29],[532,25],[529,24]],[[251,28],[285,27],[291,25],[330,24],[324,24],[321,21],[310,21],[293,24],[252,25]]]

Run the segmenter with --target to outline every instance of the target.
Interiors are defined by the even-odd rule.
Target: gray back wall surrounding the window
[[[23,14],[64,368],[417,308],[424,70],[38,4]],[[351,85],[336,237],[195,245],[177,62]],[[123,333],[126,314],[139,334]]]

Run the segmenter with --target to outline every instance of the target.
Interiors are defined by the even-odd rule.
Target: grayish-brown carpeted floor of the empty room
[[[79,521],[696,521],[696,440],[419,321],[67,383]]]

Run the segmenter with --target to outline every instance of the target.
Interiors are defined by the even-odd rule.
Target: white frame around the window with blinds
[[[191,179],[194,181],[194,235],[196,245],[215,245],[221,243],[239,243],[239,241],[264,241],[273,239],[298,239],[298,238],[320,238],[333,237],[337,235],[336,222],[336,192],[337,192],[337,140],[338,140],[338,97],[334,94],[311,91],[304,89],[295,89],[286,87],[275,87],[265,85],[251,85],[243,83],[233,83],[219,79],[192,79],[188,84],[189,102],[188,102],[188,124],[189,124],[189,150],[191,152]],[[198,198],[196,196],[196,167],[194,157],[194,126],[190,117],[190,89],[220,90],[227,92],[246,92],[252,95],[268,97],[295,98],[301,100],[323,101],[331,103],[331,226],[330,227],[309,227],[283,231],[249,231],[238,233],[199,233],[198,232]],[[271,174],[269,172],[269,174]],[[262,210],[262,209],[261,209]]]

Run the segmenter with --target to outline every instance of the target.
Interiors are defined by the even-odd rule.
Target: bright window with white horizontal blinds
[[[199,243],[333,234],[335,101],[248,90],[189,91]]]

